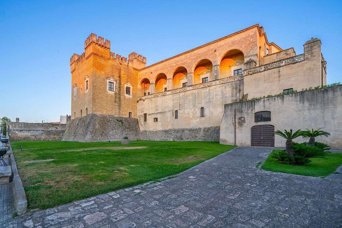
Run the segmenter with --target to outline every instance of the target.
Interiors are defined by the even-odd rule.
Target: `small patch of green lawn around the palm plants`
[[[342,164],[342,153],[327,153],[327,159],[310,159],[312,162],[304,166],[285,165],[271,157],[273,153],[278,151],[280,150],[272,151],[266,162],[261,166],[261,169],[303,176],[326,177],[335,172],[335,170]]]

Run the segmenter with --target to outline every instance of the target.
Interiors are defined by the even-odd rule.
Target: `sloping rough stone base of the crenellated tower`
[[[140,139],[138,120],[114,115],[89,114],[71,119],[62,140],[79,142],[120,141]]]

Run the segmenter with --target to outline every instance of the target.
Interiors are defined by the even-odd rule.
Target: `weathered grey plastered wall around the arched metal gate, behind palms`
[[[275,130],[318,129],[330,132],[329,137],[316,137],[316,141],[342,149],[342,86],[313,89],[269,98],[235,102],[224,105],[220,128],[220,143],[251,146],[251,128],[272,125]],[[271,112],[271,120],[255,122],[256,112]],[[274,137],[275,147],[285,147],[286,140]],[[293,141],[304,142],[298,137]]]

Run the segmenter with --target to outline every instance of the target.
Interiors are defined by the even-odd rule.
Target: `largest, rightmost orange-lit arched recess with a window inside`
[[[234,76],[234,70],[237,71],[237,75],[242,74],[244,63],[245,63],[245,55],[241,50],[231,49],[225,52],[221,56],[220,78]]]

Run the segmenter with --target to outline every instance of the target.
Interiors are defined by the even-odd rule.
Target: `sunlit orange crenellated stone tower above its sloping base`
[[[128,59],[110,51],[110,41],[90,34],[84,52],[70,58],[71,118],[91,113],[137,117],[137,103],[143,91],[138,70],[146,58],[135,52]]]

